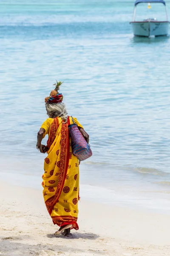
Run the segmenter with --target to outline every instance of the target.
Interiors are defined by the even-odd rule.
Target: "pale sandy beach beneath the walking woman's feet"
[[[41,191],[0,186],[0,256],[170,256],[170,216],[79,203],[72,238],[55,237]]]

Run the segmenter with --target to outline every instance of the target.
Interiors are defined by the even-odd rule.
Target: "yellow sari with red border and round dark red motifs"
[[[76,118],[74,122],[79,124]],[[54,224],[59,227],[72,224],[78,230],[79,160],[72,154],[68,125],[72,118],[63,123],[61,117],[48,118],[42,124],[44,136],[48,134],[48,156],[44,161],[42,175],[43,196]],[[82,127],[83,128],[83,127]]]

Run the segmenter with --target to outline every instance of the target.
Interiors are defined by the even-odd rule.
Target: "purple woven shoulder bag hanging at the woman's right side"
[[[86,160],[92,156],[90,145],[87,143],[85,138],[82,136],[77,124],[74,122],[71,116],[73,124],[68,125],[69,133],[71,136],[71,148],[73,154],[79,159],[79,161]]]

